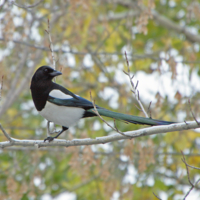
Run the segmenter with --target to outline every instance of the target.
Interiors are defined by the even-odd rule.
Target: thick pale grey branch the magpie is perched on
[[[143,128],[136,131],[128,131],[124,134],[131,136],[133,138],[136,137],[143,137],[143,136],[149,136],[149,135],[155,135],[160,133],[167,133],[172,131],[181,131],[181,130],[188,130],[188,129],[195,129],[199,128],[200,126],[195,122],[185,122],[183,123],[177,123],[177,124],[171,124],[171,125],[163,125],[163,126],[153,126],[149,128]],[[0,129],[2,131],[5,131],[2,126],[0,126]],[[54,139],[52,142],[47,143],[43,140],[18,140],[18,139],[12,139],[12,143],[9,141],[6,142],[0,142],[0,147],[9,147],[9,146],[36,146],[36,147],[46,147],[46,146],[82,146],[82,145],[93,145],[93,144],[105,144],[108,142],[113,142],[117,140],[123,140],[127,139],[126,136],[120,135],[120,134],[112,134],[105,137],[97,137],[95,139],[91,138],[85,138],[85,139],[73,139],[73,140],[62,140],[62,139]]]

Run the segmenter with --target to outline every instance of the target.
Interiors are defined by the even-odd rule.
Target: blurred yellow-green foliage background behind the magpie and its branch
[[[48,28],[49,20],[49,28]],[[131,92],[124,56],[144,107],[155,119],[194,120],[200,113],[198,0],[1,0],[0,123],[17,139],[46,137],[46,121],[30,95],[30,80],[53,66],[72,92],[96,104],[143,116]],[[106,118],[105,118],[106,119]],[[113,120],[106,119],[113,124]],[[121,131],[145,126],[117,122]],[[59,127],[57,127],[59,129]],[[183,199],[191,185],[181,158],[200,166],[199,130],[80,147],[0,149],[0,199]],[[99,118],[81,120],[60,138],[113,134]],[[6,141],[0,133],[0,141]],[[192,182],[199,171],[190,170]],[[187,199],[199,199],[192,190]]]

